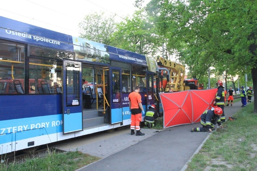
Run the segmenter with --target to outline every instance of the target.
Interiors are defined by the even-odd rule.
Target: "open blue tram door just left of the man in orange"
[[[122,84],[121,68],[110,67],[110,106],[111,106],[111,124],[122,122]]]

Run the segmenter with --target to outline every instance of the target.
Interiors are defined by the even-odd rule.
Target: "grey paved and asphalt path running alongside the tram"
[[[226,119],[242,109],[241,101],[224,108]],[[77,171],[128,170],[185,170],[186,163],[196,154],[210,135],[209,132],[191,132],[200,123],[171,128],[141,129],[144,136],[130,135],[130,128],[105,135],[81,139],[57,148],[81,151],[102,159]]]

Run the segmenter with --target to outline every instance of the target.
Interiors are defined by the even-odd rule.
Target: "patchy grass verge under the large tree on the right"
[[[253,171],[257,170],[257,114],[248,103],[227,120],[223,129],[213,132],[186,171]]]

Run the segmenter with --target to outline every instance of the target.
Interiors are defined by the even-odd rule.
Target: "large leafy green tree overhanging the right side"
[[[211,66],[223,72],[229,61],[229,70],[241,70],[240,75],[251,71],[255,92],[256,9],[257,2],[251,0],[151,0],[146,7],[167,45],[181,52],[191,75],[206,74]]]

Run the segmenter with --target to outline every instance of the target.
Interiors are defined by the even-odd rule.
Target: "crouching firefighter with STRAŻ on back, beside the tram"
[[[156,125],[155,120],[158,118],[158,113],[155,110],[156,107],[154,104],[152,104],[151,106],[148,107],[149,109],[146,111],[145,113],[145,117],[144,117],[144,124],[148,127],[154,127],[154,125]]]

